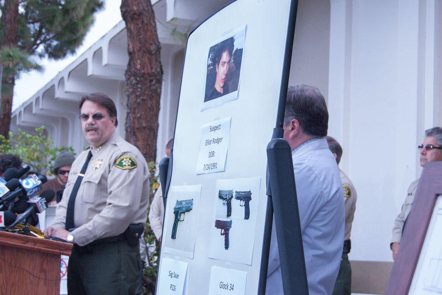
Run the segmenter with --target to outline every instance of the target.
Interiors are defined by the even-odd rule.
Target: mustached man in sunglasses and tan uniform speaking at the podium
[[[149,197],[147,164],[139,150],[115,132],[111,98],[84,96],[80,119],[90,146],[72,164],[46,233],[74,243],[68,265],[70,295],[137,294],[139,236]]]

